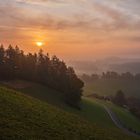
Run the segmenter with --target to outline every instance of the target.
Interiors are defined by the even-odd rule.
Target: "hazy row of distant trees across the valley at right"
[[[132,74],[131,72],[125,72],[125,73],[117,73],[114,71],[107,71],[103,72],[101,75],[99,74],[83,74],[81,78],[84,81],[90,82],[98,79],[122,79],[122,80],[140,80],[140,73]]]

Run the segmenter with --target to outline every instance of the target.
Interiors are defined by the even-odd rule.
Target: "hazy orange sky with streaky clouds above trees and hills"
[[[140,55],[140,0],[0,0],[0,43],[63,59]]]

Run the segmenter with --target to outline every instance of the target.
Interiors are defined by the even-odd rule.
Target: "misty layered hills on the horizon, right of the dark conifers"
[[[108,57],[91,61],[69,61],[68,63],[75,68],[77,74],[104,71],[140,73],[140,58]]]

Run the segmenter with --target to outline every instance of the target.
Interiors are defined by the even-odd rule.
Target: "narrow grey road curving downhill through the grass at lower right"
[[[125,132],[128,135],[133,135],[133,136],[139,136],[139,134],[136,134],[132,131],[130,131],[128,128],[124,127],[124,125],[121,123],[121,121],[117,118],[117,116],[107,107],[104,105],[104,109],[106,110],[106,112],[108,113],[108,115],[110,116],[110,118],[112,119],[112,121],[114,122],[114,124],[120,128],[121,130],[123,130],[123,132]]]

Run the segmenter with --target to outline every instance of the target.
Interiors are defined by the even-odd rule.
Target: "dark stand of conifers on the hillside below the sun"
[[[25,54],[17,46],[7,49],[0,46],[0,80],[21,79],[51,87],[63,94],[69,105],[78,106],[84,83],[77,77],[72,67],[56,56],[50,57],[42,50]]]

